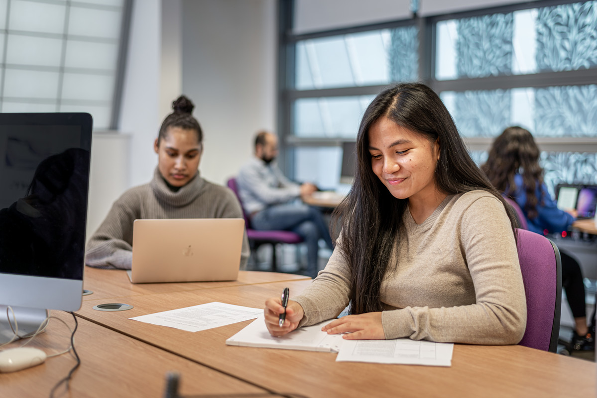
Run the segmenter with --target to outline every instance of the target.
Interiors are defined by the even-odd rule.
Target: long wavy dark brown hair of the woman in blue
[[[524,208],[528,218],[537,217],[537,204],[543,200],[535,193],[537,186],[543,183],[539,154],[539,147],[527,129],[508,127],[493,141],[487,162],[481,166],[494,187],[508,196],[512,196],[518,188],[514,176],[518,172],[522,174],[522,185],[527,193]]]

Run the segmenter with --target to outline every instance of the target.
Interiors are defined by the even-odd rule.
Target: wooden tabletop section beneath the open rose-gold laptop
[[[92,291],[93,294],[84,295],[83,300],[213,289],[223,286],[251,285],[254,283],[269,283],[284,280],[310,280],[310,277],[277,272],[239,271],[237,280],[227,280],[224,282],[131,283],[125,270],[102,270],[85,267],[83,288]]]

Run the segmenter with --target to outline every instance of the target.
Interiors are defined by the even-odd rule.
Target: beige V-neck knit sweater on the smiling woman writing
[[[448,196],[423,223],[404,215],[381,286],[387,339],[516,344],[527,321],[516,243],[501,202],[484,191]],[[324,270],[298,297],[300,326],[338,316],[346,307],[349,274],[341,243]]]

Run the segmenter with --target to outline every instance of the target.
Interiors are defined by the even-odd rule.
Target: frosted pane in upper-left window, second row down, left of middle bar
[[[60,39],[8,35],[6,63],[35,66],[60,66]]]

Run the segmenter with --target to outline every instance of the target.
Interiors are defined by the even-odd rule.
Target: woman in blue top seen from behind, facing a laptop
[[[487,162],[481,166],[493,186],[516,201],[528,229],[541,235],[561,233],[576,220],[576,209],[559,209],[543,182],[540,150],[524,128],[506,128],[493,142]],[[583,275],[578,262],[560,249],[562,286],[574,316],[574,350],[595,348],[595,325],[587,326]]]

